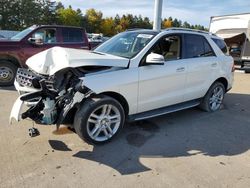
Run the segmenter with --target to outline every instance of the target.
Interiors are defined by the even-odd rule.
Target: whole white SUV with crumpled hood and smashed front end
[[[194,106],[217,111],[233,82],[233,58],[225,49],[215,35],[174,28],[126,31],[92,52],[54,47],[18,70],[22,95],[10,119],[70,124],[84,140],[104,143],[126,120]]]

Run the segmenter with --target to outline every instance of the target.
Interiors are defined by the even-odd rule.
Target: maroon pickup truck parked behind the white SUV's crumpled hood
[[[32,55],[54,46],[90,50],[85,29],[71,26],[31,26],[0,40],[0,86],[12,85],[18,67]]]

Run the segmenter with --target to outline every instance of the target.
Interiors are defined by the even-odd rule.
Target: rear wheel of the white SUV
[[[221,82],[215,82],[203,98],[200,108],[206,112],[215,112],[221,108],[225,95],[225,86]]]

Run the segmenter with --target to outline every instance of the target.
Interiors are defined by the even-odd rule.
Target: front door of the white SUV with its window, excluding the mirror
[[[183,102],[187,67],[181,58],[181,47],[181,35],[168,35],[146,54],[163,55],[164,65],[147,65],[142,60],[143,65],[139,67],[138,113]]]

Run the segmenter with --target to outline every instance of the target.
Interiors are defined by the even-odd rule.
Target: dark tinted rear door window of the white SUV
[[[185,58],[214,56],[214,52],[201,35],[185,34]]]

